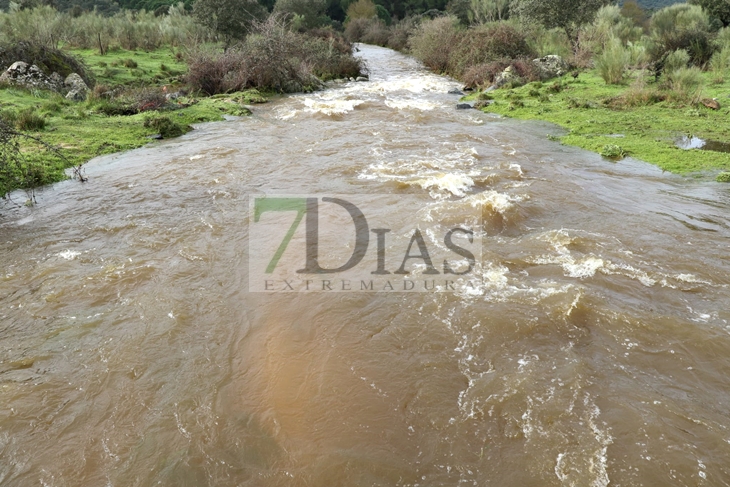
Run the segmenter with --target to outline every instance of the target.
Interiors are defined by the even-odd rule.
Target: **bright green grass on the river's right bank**
[[[607,105],[616,105],[610,100],[625,93],[629,87],[606,85],[595,70],[581,73],[577,80],[563,79],[560,81],[562,90],[551,89],[552,81],[494,90],[490,94],[495,102],[483,110],[556,123],[569,131],[560,137],[562,143],[599,154],[605,152],[607,146],[616,146],[611,147],[611,153],[620,150],[673,173],[714,175],[718,169],[730,169],[730,154],[682,150],[674,144],[681,135],[730,140],[730,82],[711,84],[711,76],[711,73],[703,73],[706,80],[703,97],[717,98],[720,110],[672,101],[610,108]]]

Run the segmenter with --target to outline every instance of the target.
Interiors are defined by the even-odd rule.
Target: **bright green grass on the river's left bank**
[[[153,137],[181,135],[194,123],[223,120],[226,114],[249,115],[246,105],[266,101],[257,90],[165,100],[166,93],[181,86],[186,71],[180,56],[170,49],[119,49],[105,56],[86,50],[72,53],[84,60],[97,80],[86,101],[69,101],[46,90],[0,89],[0,118],[57,149],[49,151],[31,138],[19,139],[24,164],[37,174],[34,185],[59,181],[65,178],[65,169],[96,156],[135,149],[153,143]],[[151,100],[153,109],[142,105],[140,111],[145,100]],[[0,181],[0,194],[23,186],[22,178],[6,177]]]

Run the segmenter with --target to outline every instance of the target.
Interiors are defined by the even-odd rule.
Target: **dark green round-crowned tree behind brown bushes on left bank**
[[[193,15],[198,23],[222,35],[228,48],[233,40],[246,37],[251,25],[268,12],[256,0],[197,0]]]

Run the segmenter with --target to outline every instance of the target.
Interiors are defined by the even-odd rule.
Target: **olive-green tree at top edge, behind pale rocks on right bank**
[[[548,29],[563,29],[575,46],[578,28],[591,22],[598,9],[608,3],[610,0],[512,0],[510,13]]]

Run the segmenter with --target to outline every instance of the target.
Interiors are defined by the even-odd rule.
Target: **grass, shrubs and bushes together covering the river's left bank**
[[[253,4],[258,13],[249,15]],[[95,156],[180,136],[194,123],[249,115],[248,104],[274,93],[361,73],[342,35],[302,32],[312,24],[300,4],[273,15],[253,4],[238,17],[230,9],[238,15],[240,3],[207,0],[192,14],[183,3],[106,16],[48,5],[0,12],[0,68],[24,61],[61,80],[78,73],[90,88],[85,101],[72,102],[41,87],[0,85],[0,197],[58,181]]]

